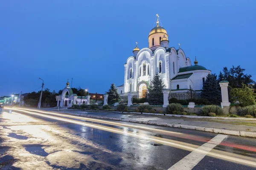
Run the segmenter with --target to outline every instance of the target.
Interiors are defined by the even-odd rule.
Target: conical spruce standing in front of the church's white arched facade
[[[150,82],[150,86],[148,88],[148,102],[153,105],[162,105],[163,104],[163,85],[162,79],[160,79],[160,75],[156,74],[152,81]]]

